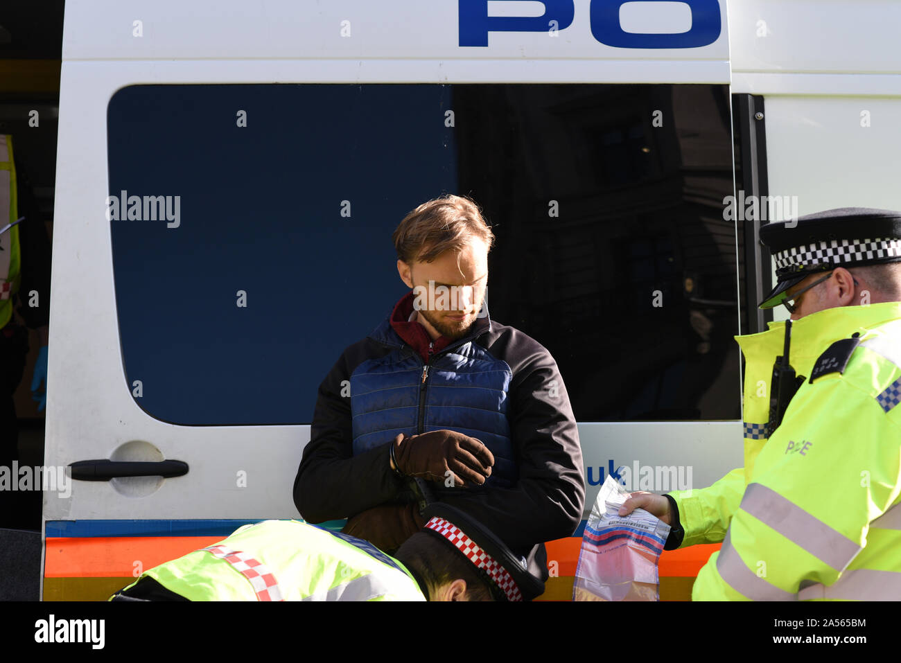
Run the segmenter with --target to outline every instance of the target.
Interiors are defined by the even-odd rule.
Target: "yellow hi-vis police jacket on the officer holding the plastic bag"
[[[670,494],[685,530],[680,547],[723,541],[692,598],[901,599],[901,303],[793,322],[789,359],[808,379],[768,439],[784,328],[736,337],[747,360],[745,467]],[[861,342],[840,372],[824,352],[855,333]]]

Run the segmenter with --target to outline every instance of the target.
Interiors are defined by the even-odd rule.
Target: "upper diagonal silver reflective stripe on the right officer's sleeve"
[[[842,532],[762,484],[749,484],[741,508],[836,571],[842,571],[862,547]]]

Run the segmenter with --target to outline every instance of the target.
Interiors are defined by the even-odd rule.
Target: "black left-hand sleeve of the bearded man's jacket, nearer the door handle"
[[[390,444],[353,455],[350,373],[371,356],[365,354],[367,348],[372,352],[371,345],[350,346],[319,386],[310,442],[294,481],[294,504],[305,521],[350,518],[393,501],[405,487],[389,465]]]

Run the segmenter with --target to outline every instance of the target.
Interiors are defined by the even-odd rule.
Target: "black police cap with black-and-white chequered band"
[[[810,274],[901,261],[901,212],[841,207],[807,214],[761,226],[760,243],[776,261],[776,287],[760,303],[772,308]]]

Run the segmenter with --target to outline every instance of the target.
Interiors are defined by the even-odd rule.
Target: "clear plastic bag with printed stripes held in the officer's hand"
[[[659,600],[657,562],[669,525],[644,509],[620,516],[628,497],[608,475],[582,535],[573,601]]]

